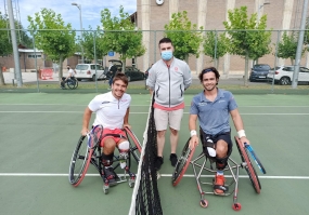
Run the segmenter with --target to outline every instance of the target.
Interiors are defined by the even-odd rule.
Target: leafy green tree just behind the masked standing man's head
[[[203,41],[203,27],[197,29],[197,25],[188,18],[188,12],[173,13],[169,24],[165,25],[165,37],[171,39],[175,46],[173,55],[188,62],[190,55],[199,56],[199,44]]]

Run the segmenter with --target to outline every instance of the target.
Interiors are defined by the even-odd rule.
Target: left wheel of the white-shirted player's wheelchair
[[[87,140],[86,136],[81,136],[72,156],[68,182],[75,187],[83,179],[93,153],[93,149],[88,149]]]

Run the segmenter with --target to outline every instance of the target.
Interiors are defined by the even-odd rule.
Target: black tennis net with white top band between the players
[[[156,129],[154,121],[154,94],[150,106],[149,119],[144,132],[143,148],[138,176],[132,193],[129,215],[162,215],[162,205],[157,189],[157,172],[154,161],[157,156]]]

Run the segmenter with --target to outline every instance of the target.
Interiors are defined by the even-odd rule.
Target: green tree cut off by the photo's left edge
[[[0,56],[8,56],[12,54],[12,43],[10,39],[10,31],[7,29],[9,19],[0,12]],[[4,65],[0,64],[0,85],[5,85],[4,77],[2,73],[2,67]]]

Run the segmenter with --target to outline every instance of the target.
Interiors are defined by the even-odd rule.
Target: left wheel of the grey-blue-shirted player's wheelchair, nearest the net
[[[172,186],[177,186],[178,183],[180,183],[194,154],[196,147],[194,147],[192,150],[189,148],[190,139],[191,138],[188,139],[184,148],[182,149],[181,156],[178,159],[173,173],[171,175]]]

